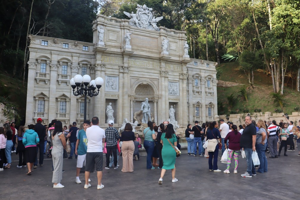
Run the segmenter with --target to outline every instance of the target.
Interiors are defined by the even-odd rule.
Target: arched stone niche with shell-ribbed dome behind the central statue
[[[155,97],[157,90],[155,91],[155,88],[153,83],[141,81],[135,84],[135,87],[131,90],[131,110],[132,113],[134,113],[134,121],[137,121],[139,124],[142,123],[143,118],[141,103],[144,102],[146,98],[148,98],[148,103],[150,105],[151,121],[157,119],[157,98]]]

